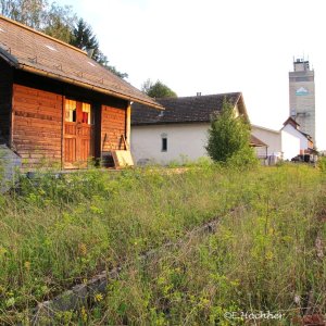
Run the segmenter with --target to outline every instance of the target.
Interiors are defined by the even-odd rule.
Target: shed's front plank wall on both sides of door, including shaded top
[[[82,89],[50,78],[14,72],[12,148],[24,159],[24,167],[40,161],[61,161],[63,98],[90,102],[95,112],[95,155],[102,150],[124,149],[126,100]],[[106,140],[103,138],[106,134]]]

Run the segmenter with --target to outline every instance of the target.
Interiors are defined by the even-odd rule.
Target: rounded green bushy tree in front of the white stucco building
[[[209,155],[215,162],[227,162],[234,156],[254,160],[250,148],[250,125],[241,117],[236,117],[234,105],[224,100],[221,113],[214,113],[209,129]]]

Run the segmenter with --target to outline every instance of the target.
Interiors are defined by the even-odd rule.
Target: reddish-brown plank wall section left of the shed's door
[[[61,162],[62,102],[61,95],[14,84],[12,146],[23,164]]]

